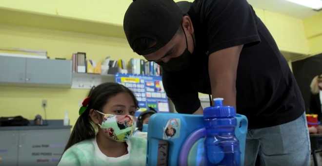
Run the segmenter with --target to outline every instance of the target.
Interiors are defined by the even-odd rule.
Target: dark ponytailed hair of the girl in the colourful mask
[[[91,109],[102,110],[108,99],[121,92],[130,94],[135,106],[139,108],[138,100],[133,92],[121,84],[108,82],[92,88],[88,94],[90,100],[87,109],[78,117],[64,151],[74,144],[95,137],[95,130],[90,124],[89,111]]]

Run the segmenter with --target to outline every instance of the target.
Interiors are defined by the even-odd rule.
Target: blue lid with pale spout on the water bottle
[[[223,98],[215,98],[214,106],[203,109],[203,118],[223,118],[223,117],[235,117],[236,111],[234,107],[223,106]]]

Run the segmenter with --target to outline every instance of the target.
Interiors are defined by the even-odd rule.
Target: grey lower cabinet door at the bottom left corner
[[[19,131],[0,131],[0,166],[17,166]]]

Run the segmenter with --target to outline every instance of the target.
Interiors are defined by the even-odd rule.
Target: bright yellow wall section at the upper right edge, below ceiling
[[[322,12],[304,19],[305,34],[310,46],[310,54],[322,53]]]

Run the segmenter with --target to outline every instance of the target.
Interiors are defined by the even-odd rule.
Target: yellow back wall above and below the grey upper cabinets
[[[88,58],[102,60],[106,55],[114,59],[140,57],[133,53],[124,38],[62,32],[24,26],[0,24],[1,47],[47,50],[51,58],[71,57],[74,52],[86,52]],[[41,100],[47,99],[47,118],[62,119],[69,112],[71,124],[78,117],[79,103],[88,90],[0,86],[0,116],[22,115],[34,119],[43,115]]]

